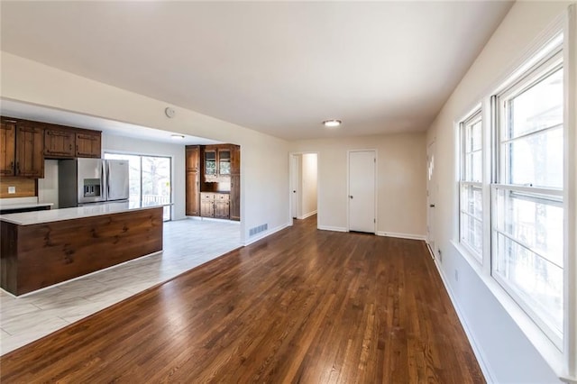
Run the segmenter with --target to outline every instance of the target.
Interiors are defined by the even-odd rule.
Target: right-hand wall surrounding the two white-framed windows
[[[453,127],[458,119],[481,101],[481,97],[488,96],[491,87],[510,73],[532,41],[567,5],[517,2],[427,131],[427,143],[436,142],[438,192],[434,225],[436,244],[443,251],[443,261],[437,260],[437,263],[472,336],[472,342],[480,353],[481,362],[490,375],[488,379],[499,383],[553,383],[558,379],[451,242],[458,236]]]

